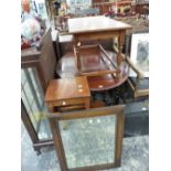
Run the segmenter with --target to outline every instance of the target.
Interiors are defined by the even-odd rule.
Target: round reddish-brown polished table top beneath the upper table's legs
[[[109,57],[116,63],[116,54],[107,51]],[[82,72],[101,71],[106,68],[101,57],[97,53],[81,54]],[[111,74],[101,76],[88,76],[88,85],[92,92],[107,90],[116,88],[128,78],[129,66],[122,61],[120,67],[120,78],[116,79]],[[78,76],[78,71],[75,65],[74,53],[68,52],[58,61],[56,73],[60,77],[75,77]]]

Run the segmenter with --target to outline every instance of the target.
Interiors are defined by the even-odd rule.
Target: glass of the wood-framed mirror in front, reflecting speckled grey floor
[[[68,168],[115,162],[116,116],[60,120]]]

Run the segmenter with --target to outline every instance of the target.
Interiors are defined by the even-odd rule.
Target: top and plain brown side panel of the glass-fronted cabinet
[[[47,29],[35,47],[21,51],[21,67],[35,67],[45,92],[49,81],[54,77],[56,56],[52,43],[51,29]]]

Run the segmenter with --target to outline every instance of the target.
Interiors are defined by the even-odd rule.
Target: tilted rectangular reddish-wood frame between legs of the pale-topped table
[[[105,74],[116,74],[116,64],[101,45],[86,45],[74,49],[75,56],[79,53],[79,75],[101,76]]]

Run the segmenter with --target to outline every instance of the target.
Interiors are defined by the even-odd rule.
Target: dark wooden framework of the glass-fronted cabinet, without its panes
[[[56,56],[54,53],[51,29],[47,29],[42,36],[40,43],[36,47],[30,47],[21,51],[21,68],[26,72],[30,84],[33,86],[33,82],[31,82],[31,76],[29,75],[29,68],[35,68],[38,74],[38,82],[40,82],[41,90],[45,93],[49,81],[54,78],[54,71],[56,66]],[[36,92],[38,89],[32,89],[32,95],[35,100],[38,99]],[[39,106],[41,108],[41,106]],[[33,142],[33,147],[35,150],[40,151],[41,147],[53,145],[52,139],[42,140],[39,139],[38,132],[33,127],[33,122],[30,118],[29,111],[25,108],[24,100],[21,99],[21,118],[28,130],[28,133],[31,137]]]

